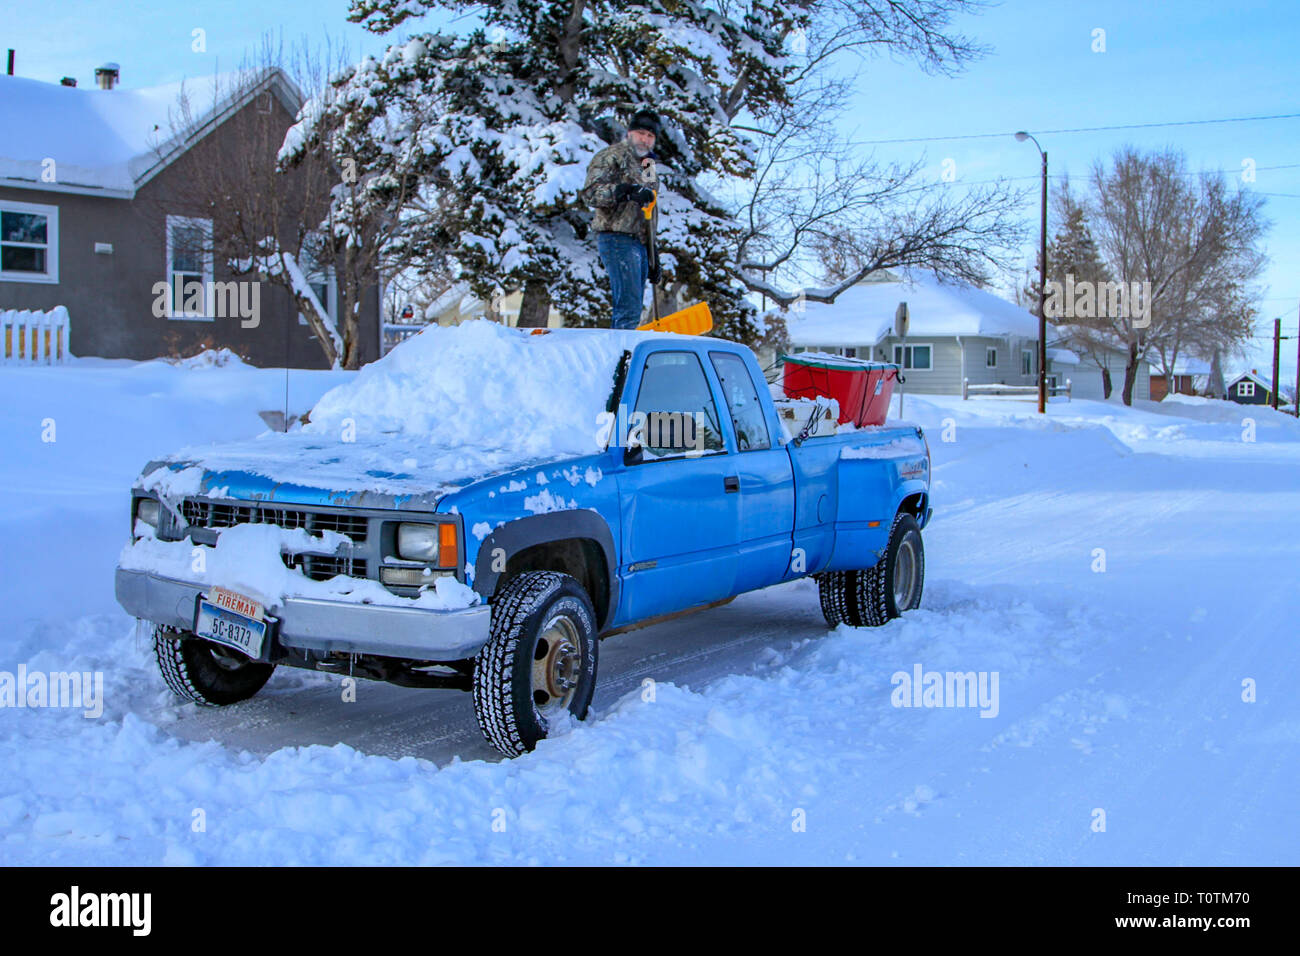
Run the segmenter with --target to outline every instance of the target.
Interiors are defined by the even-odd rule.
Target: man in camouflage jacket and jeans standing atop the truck
[[[646,278],[659,281],[659,261],[650,258],[650,237],[658,224],[654,142],[659,117],[640,109],[628,124],[628,135],[592,157],[582,186],[582,202],[595,209],[592,228],[595,248],[610,274],[614,299],[611,328],[634,329],[641,324],[641,300]],[[646,217],[646,209],[650,217]]]

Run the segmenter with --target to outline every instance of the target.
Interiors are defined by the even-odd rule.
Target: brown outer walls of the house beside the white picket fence
[[[238,125],[250,103],[142,186],[134,199],[14,189],[0,185],[0,199],[58,208],[58,281],[0,281],[0,310],[51,310],[72,317],[70,350],[78,356],[153,359],[229,347],[256,365],[322,368],[325,359],[307,325],[298,321],[289,294],[270,282],[260,289],[260,323],[242,328],[238,317],[168,319],[153,315],[153,285],[166,280],[166,215],[186,215],[179,196],[187,170],[220,161],[239,142]],[[276,120],[291,117],[276,101]],[[110,255],[95,243],[112,243]],[[221,261],[213,281],[235,278]],[[361,308],[361,362],[380,356],[378,287],[367,290]]]

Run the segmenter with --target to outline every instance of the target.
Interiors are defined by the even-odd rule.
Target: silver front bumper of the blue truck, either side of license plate
[[[118,568],[117,602],[127,614],[188,631],[203,585],[148,571]],[[491,607],[455,611],[290,597],[268,607],[276,637],[290,648],[380,654],[416,661],[462,661],[488,643]]]

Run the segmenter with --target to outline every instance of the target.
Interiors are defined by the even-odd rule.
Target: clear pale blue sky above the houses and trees
[[[329,34],[355,51],[378,52],[384,38],[346,21],[347,0],[220,0],[192,8],[161,0],[52,0],[9,4],[0,47],[17,49],[17,73],[57,82],[92,82],[105,60],[122,66],[122,82],[152,86],[209,74],[238,64],[268,31],[286,40]],[[923,157],[937,181],[950,159],[958,182],[1024,177],[1032,186],[1039,156],[1009,134],[1127,124],[1300,113],[1295,0],[1231,3],[1132,3],[1122,0],[1005,0],[961,27],[992,47],[956,78],[926,75],[907,62],[876,60],[848,117],[858,140],[1008,135],[874,147],[881,159]],[[207,51],[191,49],[192,31],[205,31]],[[1093,31],[1105,30],[1105,52],[1093,52]],[[1126,131],[1045,134],[1053,174],[1082,179],[1091,163],[1117,147],[1173,146],[1192,169],[1223,169],[1240,177],[1253,160],[1274,226],[1271,264],[1260,302],[1260,334],[1283,317],[1295,334],[1300,308],[1300,120],[1170,126]],[[1270,166],[1291,166],[1270,169]],[[1026,204],[1036,222],[1036,193]],[[1031,256],[1026,251],[1026,260]],[[1265,325],[1268,326],[1265,329]],[[1296,342],[1283,342],[1283,381],[1295,380]],[[1264,372],[1271,343],[1256,339],[1248,359]]]

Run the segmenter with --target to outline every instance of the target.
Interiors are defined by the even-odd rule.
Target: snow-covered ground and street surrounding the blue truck
[[[909,395],[922,610],[827,632],[794,583],[612,637],[590,719],[502,761],[458,692],[182,705],[117,609],[131,479],[261,431],[282,371],[5,368],[0,402],[0,675],[104,675],[96,719],[0,709],[0,862],[1300,862],[1300,425],[1266,408]],[[996,706],[894,706],[918,666]]]

